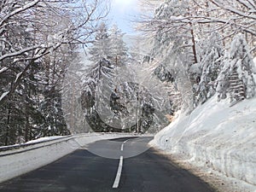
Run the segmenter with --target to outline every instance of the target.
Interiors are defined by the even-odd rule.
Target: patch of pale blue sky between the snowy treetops
[[[135,33],[131,20],[139,15],[138,0],[111,0],[111,3],[108,15],[110,25],[116,24],[126,34]]]

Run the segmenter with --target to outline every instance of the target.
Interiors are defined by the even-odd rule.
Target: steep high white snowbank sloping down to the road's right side
[[[189,117],[176,119],[151,144],[192,165],[249,183],[256,191],[256,98],[229,105],[214,97]]]

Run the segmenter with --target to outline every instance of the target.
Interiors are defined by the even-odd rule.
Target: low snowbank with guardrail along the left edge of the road
[[[45,137],[22,145],[0,148],[0,183],[45,166],[86,144],[127,134],[92,133],[72,137]]]

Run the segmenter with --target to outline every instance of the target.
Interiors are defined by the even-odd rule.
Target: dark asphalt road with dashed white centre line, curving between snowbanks
[[[148,149],[150,139],[127,137],[92,143],[48,166],[0,184],[0,192],[214,191],[154,148]]]

